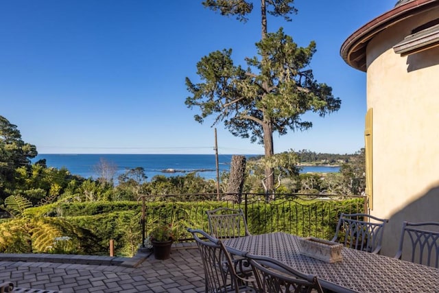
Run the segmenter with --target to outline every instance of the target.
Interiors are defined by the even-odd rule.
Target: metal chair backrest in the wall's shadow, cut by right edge
[[[439,222],[403,222],[395,257],[439,268]]]

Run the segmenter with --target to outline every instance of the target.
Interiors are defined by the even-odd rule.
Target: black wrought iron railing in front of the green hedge
[[[176,241],[189,241],[186,227],[209,231],[206,211],[217,207],[243,209],[252,234],[282,231],[322,239],[333,237],[340,213],[367,213],[365,196],[331,194],[155,195],[142,196],[141,201],[143,242],[158,224],[172,225]]]

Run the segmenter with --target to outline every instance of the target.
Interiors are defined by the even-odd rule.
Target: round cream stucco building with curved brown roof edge
[[[439,222],[439,1],[398,1],[340,54],[367,74],[366,194],[393,256],[403,220]]]

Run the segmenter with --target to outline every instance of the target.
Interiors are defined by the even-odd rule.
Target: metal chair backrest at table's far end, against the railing
[[[211,235],[218,239],[249,236],[246,217],[242,209],[220,207],[206,211]]]

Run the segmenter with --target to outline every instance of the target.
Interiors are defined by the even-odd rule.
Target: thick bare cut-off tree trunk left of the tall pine
[[[230,163],[230,178],[228,180],[227,195],[224,200],[241,202],[244,179],[246,178],[246,156],[232,156]]]

